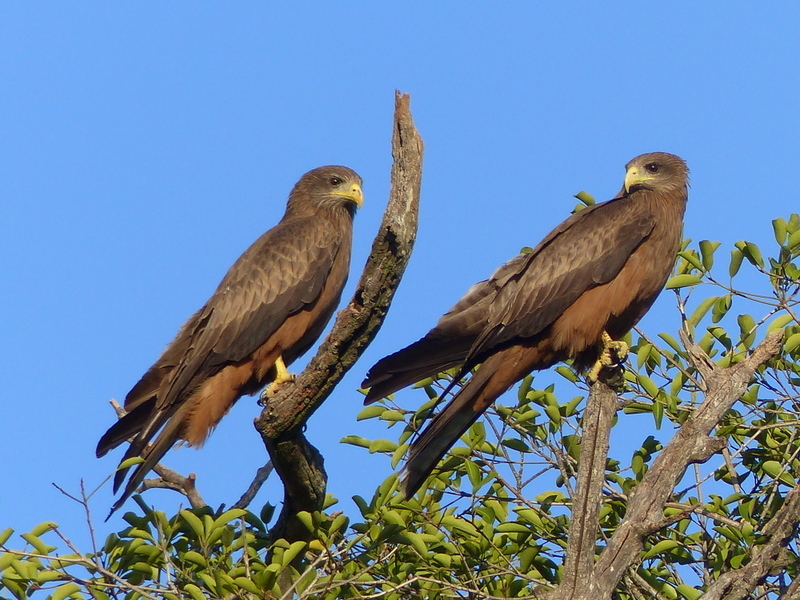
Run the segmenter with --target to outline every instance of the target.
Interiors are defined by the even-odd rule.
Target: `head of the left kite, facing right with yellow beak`
[[[344,207],[351,213],[364,203],[361,177],[347,167],[329,165],[303,175],[289,195],[289,208]]]

